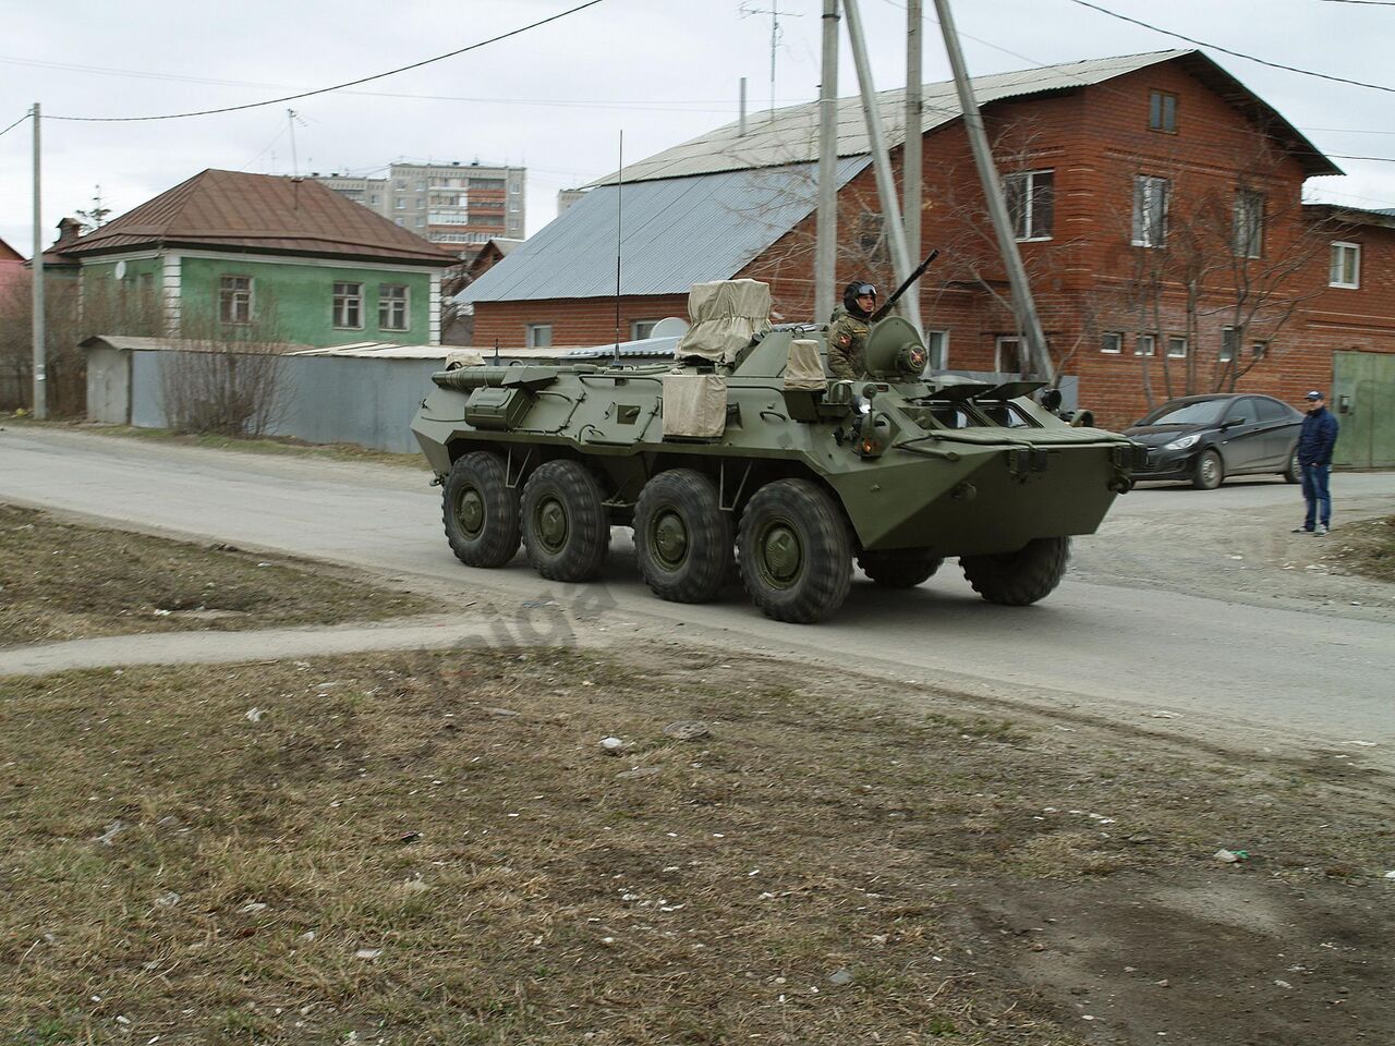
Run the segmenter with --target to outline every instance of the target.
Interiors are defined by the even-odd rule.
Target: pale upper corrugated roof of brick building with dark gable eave
[[[1339,174],[1317,148],[1292,127],[1262,99],[1240,81],[1196,50],[1162,50],[1148,54],[1123,54],[1112,59],[1089,59],[1059,66],[996,73],[974,77],[974,95],[981,106],[1007,98],[1069,91],[1101,84],[1129,73],[1136,73],[1163,61],[1184,60],[1191,73],[1211,89],[1261,124],[1269,134],[1288,142],[1299,155],[1309,174]],[[954,81],[926,84],[923,88],[922,132],[932,131],[963,116]],[[887,148],[905,141],[905,88],[877,92]],[[837,110],[838,156],[858,156],[869,152],[866,121],[862,117],[859,95],[838,99]],[[746,134],[739,124],[727,124],[699,135],[682,145],[656,153],[625,167],[625,181],[672,179],[689,174],[709,174],[742,167],[769,167],[815,160],[819,156],[819,103],[777,109],[767,119],[749,117]],[[607,185],[618,174],[607,174],[590,183]]]

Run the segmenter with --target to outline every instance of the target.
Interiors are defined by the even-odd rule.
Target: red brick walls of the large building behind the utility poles
[[[1278,283],[1274,305],[1256,317],[1242,358],[1247,370],[1236,379],[1244,391],[1269,392],[1295,400],[1310,388],[1331,384],[1331,353],[1338,349],[1395,351],[1395,230],[1371,225],[1313,230],[1313,215],[1300,206],[1304,173],[1289,156],[1264,156],[1262,141],[1244,116],[1176,60],[1105,84],[1059,95],[999,102],[985,109],[1003,174],[1055,172],[1052,238],[1023,243],[1042,326],[1063,374],[1080,378],[1081,403],[1106,425],[1122,427],[1161,403],[1189,391],[1187,361],[1166,357],[1169,335],[1189,336],[1190,391],[1216,386],[1222,328],[1233,322],[1236,275],[1229,250],[1233,202],[1242,181],[1265,197],[1262,258],[1256,273],[1290,259],[1295,271]],[[1151,91],[1177,98],[1175,134],[1148,128]],[[900,151],[893,165],[900,163]],[[1194,329],[1187,329],[1186,289],[1176,268],[1165,273],[1147,315],[1126,301],[1140,272],[1156,268],[1165,252],[1134,247],[1131,213],[1134,177],[1166,177],[1170,185],[1168,257],[1182,252],[1189,225],[1202,230],[1208,262],[1197,276],[1200,289]],[[921,315],[926,329],[949,332],[953,370],[992,370],[995,342],[1013,336],[1016,322],[1006,305],[1007,282],[988,223],[983,195],[961,123],[930,132],[925,141],[925,251],[942,257],[921,282]],[[875,173],[868,166],[838,195],[837,289],[854,279],[893,287],[884,251],[869,259],[858,250],[864,223],[880,212]],[[869,218],[870,216],[870,218]],[[1304,236],[1315,236],[1304,247]],[[1341,238],[1362,244],[1362,286],[1331,289],[1328,244]],[[732,278],[770,283],[780,321],[808,321],[813,312],[815,218],[780,237]],[[1306,261],[1304,261],[1306,259]],[[718,273],[713,273],[718,276]],[[1260,280],[1261,283],[1265,280]],[[988,285],[988,287],[985,287]],[[989,290],[990,289],[990,290]],[[1283,303],[1296,303],[1278,326]],[[557,344],[600,344],[614,338],[614,301],[480,303],[476,342],[523,344],[529,322],[552,322]],[[624,331],[632,318],[684,315],[681,294],[624,298]],[[817,317],[826,319],[826,317]],[[1123,333],[1123,351],[1101,351],[1102,332]],[[1137,333],[1156,336],[1155,356],[1134,354]],[[1249,346],[1268,343],[1262,357]]]

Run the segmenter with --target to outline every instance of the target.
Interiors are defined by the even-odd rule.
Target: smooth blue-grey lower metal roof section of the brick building
[[[840,160],[838,187],[868,163],[868,156]],[[813,211],[816,174],[816,165],[799,163],[626,183],[619,293],[686,294],[693,283],[741,272]],[[587,192],[456,301],[612,297],[617,192],[615,185]]]

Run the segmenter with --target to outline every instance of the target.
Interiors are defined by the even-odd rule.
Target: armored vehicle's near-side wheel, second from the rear
[[[523,548],[552,582],[586,582],[610,552],[610,516],[596,476],[580,462],[544,462],[523,484]]]

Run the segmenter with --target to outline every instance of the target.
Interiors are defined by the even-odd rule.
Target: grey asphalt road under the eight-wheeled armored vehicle
[[[847,665],[879,676],[857,683],[873,689],[915,681],[983,707],[1027,702],[1149,732],[1395,766],[1395,614],[1371,600],[1309,601],[1295,584],[1288,594],[1257,589],[1239,573],[1233,586],[1216,583],[1218,570],[1247,565],[1236,566],[1246,533],[1286,536],[1300,502],[1282,483],[1134,491],[1099,534],[1077,540],[1078,568],[1035,607],[983,602],[951,563],[908,593],[858,576],[837,618],[791,626],[762,616],[739,589],[702,607],[653,598],[628,531],[617,531],[607,575],[593,586],[544,582],[522,558],[502,570],[465,568],[446,548],[439,494],[427,480],[392,466],[0,430],[0,499],[371,568],[439,593],[442,609],[453,602],[469,615],[478,611],[467,604],[491,604],[505,628],[533,636],[565,632],[610,646],[678,636]],[[1356,503],[1395,513],[1392,473],[1339,476],[1334,487],[1339,516]],[[1154,549],[1141,540],[1152,530],[1172,538]],[[1131,551],[1120,556],[1116,545]]]

